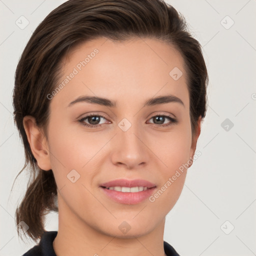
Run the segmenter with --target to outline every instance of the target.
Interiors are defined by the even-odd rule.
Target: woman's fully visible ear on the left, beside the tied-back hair
[[[42,129],[36,125],[35,118],[31,115],[24,116],[23,126],[37,165],[42,170],[50,170],[49,146]]]

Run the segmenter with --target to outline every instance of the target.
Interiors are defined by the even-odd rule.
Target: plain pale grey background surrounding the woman
[[[0,256],[21,255],[34,245],[18,239],[14,223],[28,173],[17,178],[10,194],[24,163],[12,89],[17,61],[32,31],[62,2],[0,0]],[[256,255],[256,1],[166,2],[185,16],[203,46],[209,85],[197,142],[201,156],[188,169],[180,198],[166,216],[164,240],[181,255]],[[22,15],[29,22],[23,29],[15,23],[21,23]],[[57,214],[49,214],[46,230],[57,228]]]

